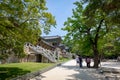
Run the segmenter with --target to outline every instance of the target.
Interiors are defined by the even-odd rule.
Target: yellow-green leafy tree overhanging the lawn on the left
[[[0,56],[20,57],[25,42],[35,44],[42,29],[48,34],[56,25],[45,0],[1,0],[0,7]]]

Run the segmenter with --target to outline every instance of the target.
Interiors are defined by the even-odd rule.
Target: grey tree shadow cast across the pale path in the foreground
[[[82,68],[79,68],[79,66],[66,66],[62,65],[61,67],[69,69],[69,70],[75,70],[77,73],[68,75],[68,78],[65,80],[105,80],[104,76],[100,75],[95,68],[87,68],[86,66],[83,66]],[[74,79],[70,79],[70,78]]]

